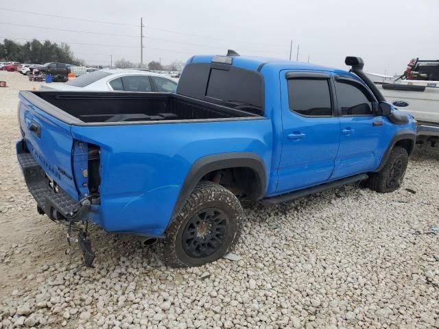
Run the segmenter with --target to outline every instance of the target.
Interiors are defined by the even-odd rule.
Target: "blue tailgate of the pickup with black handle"
[[[78,201],[72,170],[71,126],[41,110],[44,107],[59,112],[57,108],[32,93],[25,93],[28,99],[20,95],[19,121],[27,149],[47,176]]]

